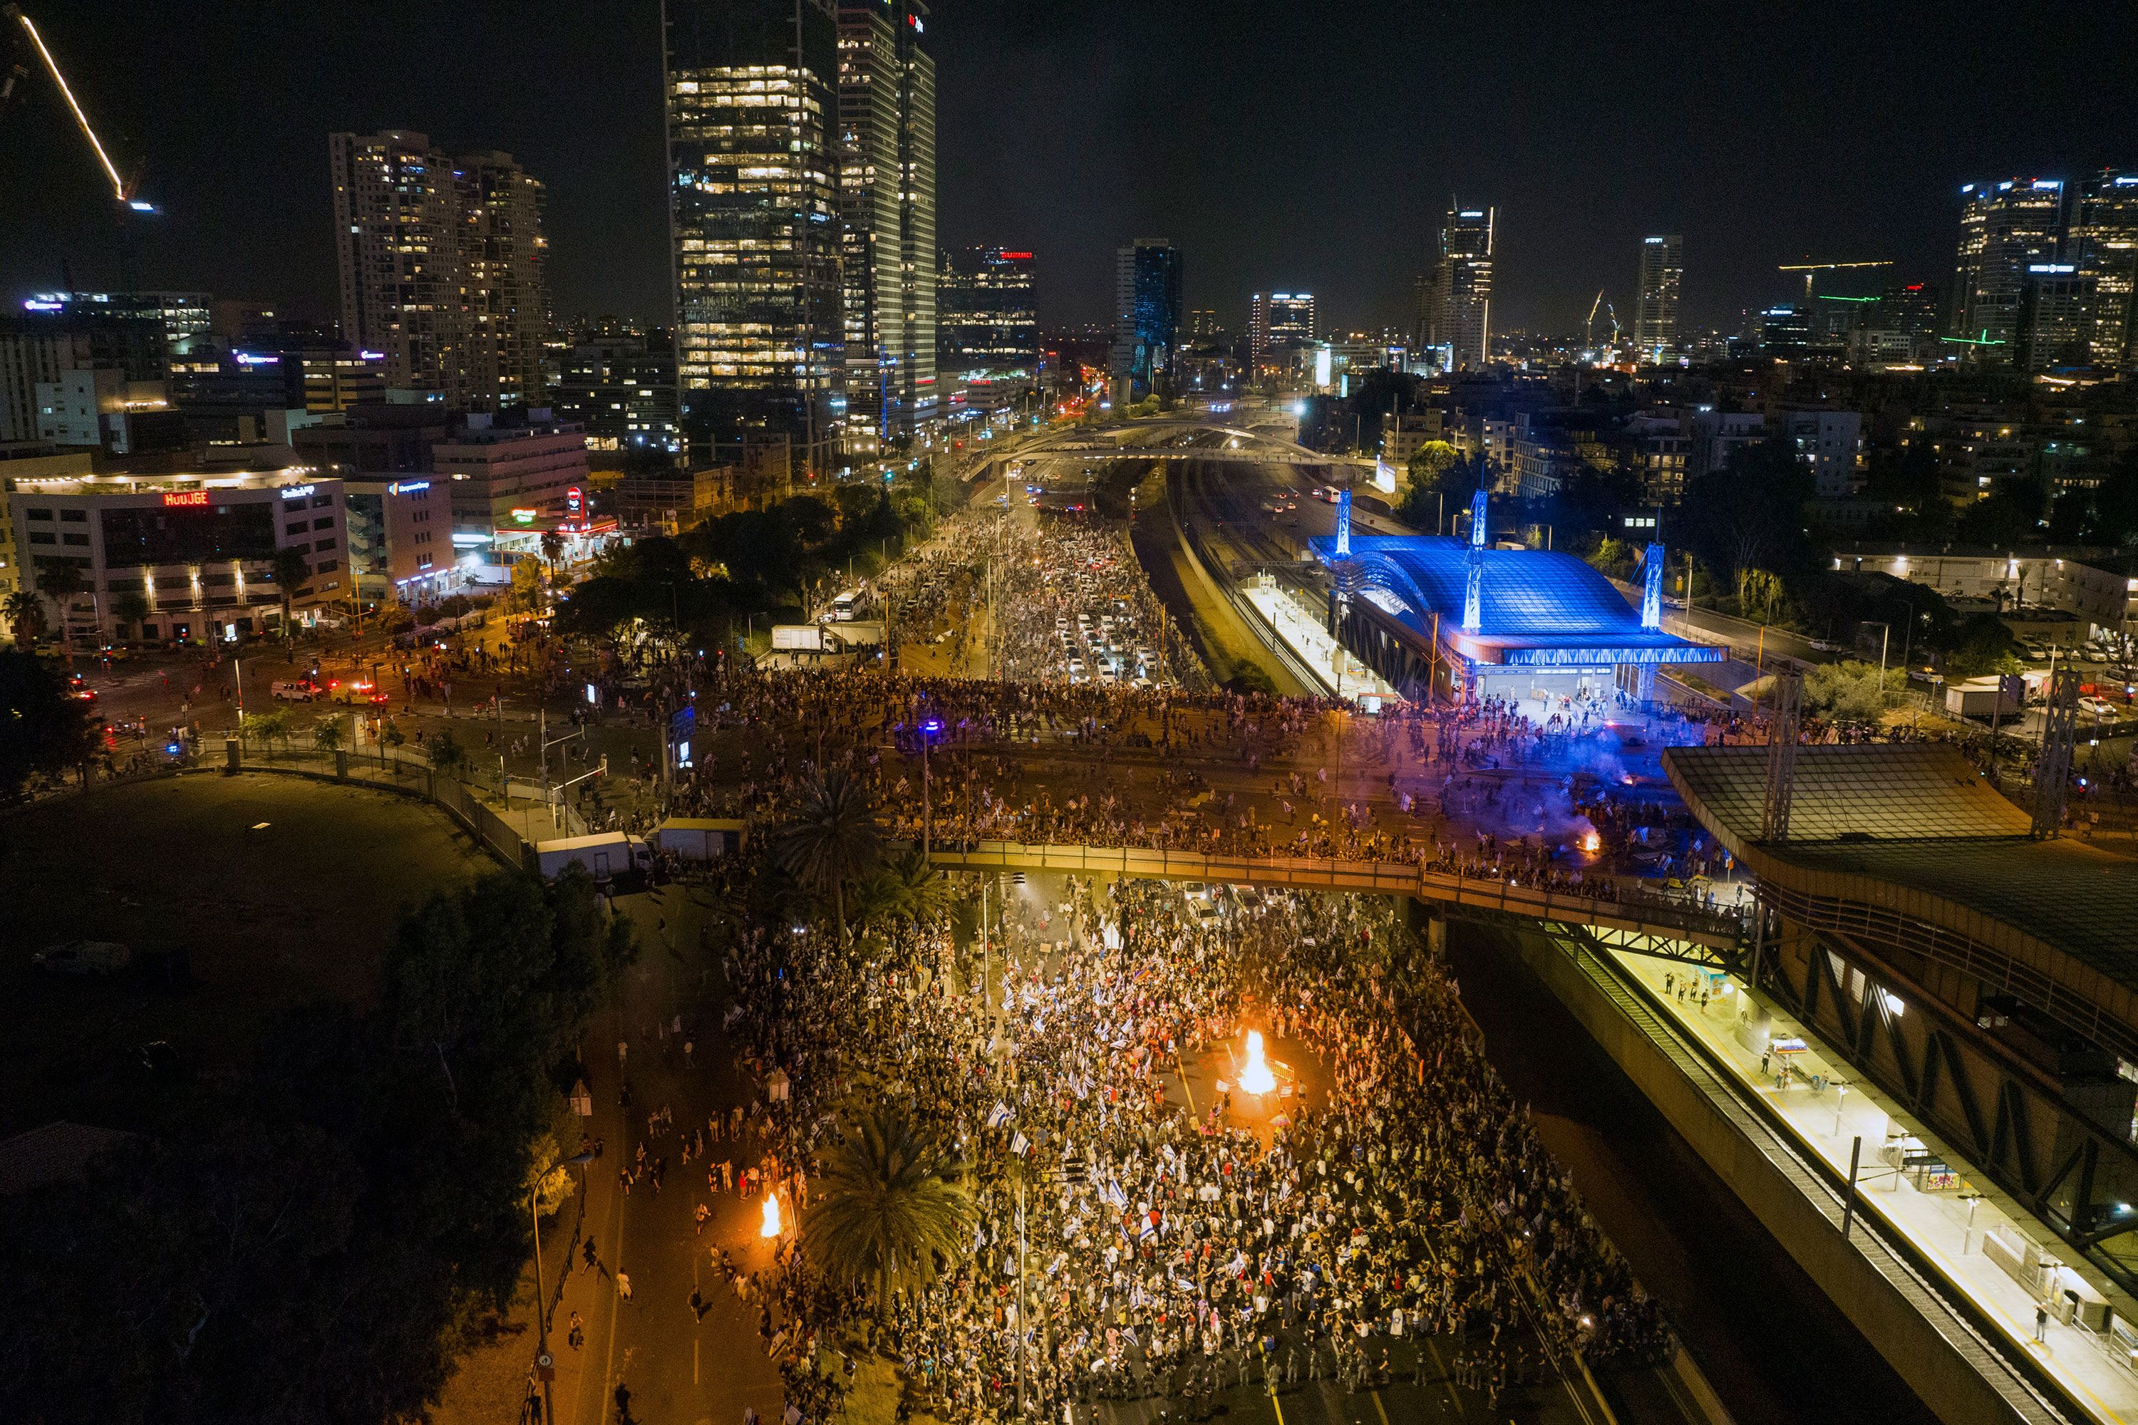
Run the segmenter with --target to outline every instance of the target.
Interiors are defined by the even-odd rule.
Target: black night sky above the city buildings
[[[400,126],[547,184],[558,316],[667,314],[650,0],[26,6],[167,207],[137,284],[331,316],[327,132]],[[1946,282],[1961,182],[2138,167],[2127,2],[943,0],[930,32],[941,239],[1033,248],[1048,323],[1105,320],[1135,235],[1229,323],[1257,286],[1407,323],[1454,190],[1499,207],[1499,327],[1574,329],[1599,286],[1629,318],[1646,231],[1685,233],[1687,316],[1734,325],[1804,254]],[[62,259],[118,284],[109,199],[32,73],[0,115],[0,295]]]

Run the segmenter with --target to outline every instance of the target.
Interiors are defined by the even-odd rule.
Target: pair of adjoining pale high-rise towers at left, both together
[[[543,400],[543,188],[511,154],[449,160],[425,135],[331,135],[342,333],[387,385],[455,406]]]

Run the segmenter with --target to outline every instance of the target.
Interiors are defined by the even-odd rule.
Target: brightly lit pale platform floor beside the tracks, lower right
[[[1766,1004],[1764,996],[1760,1000],[1772,1015],[1768,1043],[1798,1040],[1804,1047],[1787,1053],[1768,1049],[1762,1070],[1762,1053],[1740,1043],[1736,1034],[1747,1004],[1740,981],[1646,955],[1608,953],[1623,974],[1653,993],[1655,1004],[1680,1032],[1695,1038],[1742,1087],[1760,1096],[1800,1149],[1822,1158],[1839,1177],[1847,1177],[1849,1152],[1860,1137],[1858,1201],[1875,1209],[1956,1293],[1965,1295],[2016,1352],[2035,1361],[2093,1419],[2117,1425],[2138,1421],[2138,1367],[2119,1359],[2114,1337],[2050,1316],[2035,1340],[2035,1307],[2042,1301],[1984,1254],[1984,1241],[1993,1233],[2016,1231],[2050,1256],[2067,1256],[2070,1250],[2046,1224],[1986,1177],[1971,1173],[1963,1158],[1950,1154],[1946,1143],[1928,1134],[1881,1090],[1856,1081],[1854,1068],[1794,1017]],[[1706,1008],[1698,1004],[1695,993],[1676,998],[1676,987],[1687,974],[1695,989],[1708,987]],[[1663,989],[1666,976],[1672,983],[1670,993]],[[1777,1085],[1783,1060],[1790,1062],[1787,1087]],[[1813,1077],[1819,1081],[1817,1087]],[[1924,1149],[1950,1164],[1950,1173],[1928,1169],[1918,1173],[1886,1162],[1881,1149],[1888,1141]],[[2072,1267],[2059,1267],[2057,1299],[2061,1301],[2061,1288],[2070,1286],[2082,1297],[2108,1297],[2117,1318],[2134,1320],[2138,1303],[2108,1288],[2097,1273],[2091,1275],[2091,1284],[2085,1284]]]

